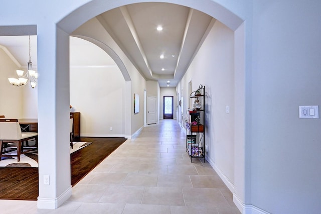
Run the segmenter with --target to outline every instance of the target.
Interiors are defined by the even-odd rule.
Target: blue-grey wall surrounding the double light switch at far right
[[[253,1],[252,204],[271,213],[319,213],[320,1]]]

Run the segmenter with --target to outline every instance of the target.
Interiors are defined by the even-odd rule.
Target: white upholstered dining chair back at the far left
[[[21,128],[18,122],[0,122],[1,140],[20,140],[22,139]]]

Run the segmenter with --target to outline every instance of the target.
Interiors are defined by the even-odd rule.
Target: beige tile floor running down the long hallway
[[[144,127],[76,184],[58,209],[0,200],[0,213],[240,213],[213,168],[203,159],[191,162],[185,135],[175,120]]]

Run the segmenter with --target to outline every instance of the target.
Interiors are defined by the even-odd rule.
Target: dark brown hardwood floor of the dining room
[[[80,137],[74,141],[92,143],[70,155],[72,186],[126,139]],[[0,167],[0,199],[37,200],[37,197],[38,168]]]

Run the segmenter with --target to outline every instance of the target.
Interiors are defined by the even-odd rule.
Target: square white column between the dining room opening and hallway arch
[[[71,196],[69,143],[69,35],[38,26],[39,196],[55,209]],[[49,176],[49,185],[44,176]]]

